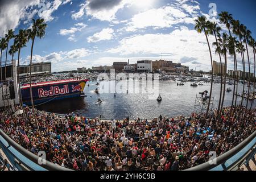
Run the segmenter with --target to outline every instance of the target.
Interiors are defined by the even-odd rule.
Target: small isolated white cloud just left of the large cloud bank
[[[90,42],[100,42],[101,40],[111,40],[113,38],[114,30],[112,28],[104,28],[102,31],[97,32],[93,36],[89,36],[87,41]]]

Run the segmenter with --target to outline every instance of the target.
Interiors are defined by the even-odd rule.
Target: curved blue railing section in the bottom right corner
[[[226,171],[234,170],[245,162],[256,144],[256,131],[236,147],[216,158],[216,164],[206,162],[185,171]]]

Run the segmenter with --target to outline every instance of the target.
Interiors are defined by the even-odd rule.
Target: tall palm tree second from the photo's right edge
[[[250,75],[251,75],[251,69],[250,69],[250,57],[249,57],[249,51],[248,51],[248,47],[247,47],[247,43],[249,43],[249,40],[251,38],[251,31],[247,30],[247,27],[242,25],[242,35],[243,35],[243,42],[245,43],[246,46],[246,52],[247,52],[247,59],[248,59],[248,68],[249,68],[249,84],[248,84],[248,93],[247,93],[247,101],[246,101],[246,107],[245,110],[247,109],[248,106],[248,102],[249,102],[249,94],[250,94],[250,84],[251,84],[251,79],[250,79]]]

